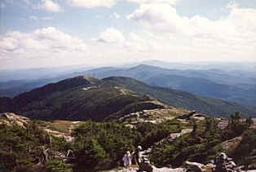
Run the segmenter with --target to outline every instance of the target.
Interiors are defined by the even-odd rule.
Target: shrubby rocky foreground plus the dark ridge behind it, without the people
[[[211,117],[177,108],[139,94],[138,88],[124,84],[129,78],[117,80],[74,77],[5,99],[0,113],[0,170],[256,169],[255,118],[241,112]],[[143,148],[143,163],[123,169],[124,153],[138,145]]]

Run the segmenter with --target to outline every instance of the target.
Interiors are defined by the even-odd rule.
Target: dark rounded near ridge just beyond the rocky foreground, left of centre
[[[102,121],[111,114],[164,108],[155,99],[93,77],[73,77],[31,90],[13,100],[20,114],[41,120]]]

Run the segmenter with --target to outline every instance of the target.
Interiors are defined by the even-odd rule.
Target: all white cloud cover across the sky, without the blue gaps
[[[227,15],[218,20],[209,20],[201,15],[179,15],[173,6],[178,1],[68,1],[76,1],[73,6],[86,8],[113,7],[116,2],[121,1],[141,4],[127,16],[127,19],[133,21],[132,25],[121,31],[105,29],[94,41],[82,40],[55,28],[38,29],[33,33],[9,32],[0,36],[0,59],[58,59],[55,65],[59,62],[72,64],[69,60],[76,60],[74,63],[77,64],[82,60],[84,63],[95,64],[147,59],[255,61],[256,10],[252,8],[229,5]],[[114,14],[111,17],[118,18],[119,14]],[[103,15],[99,16],[104,19]],[[29,18],[52,20],[50,16],[31,15]],[[85,56],[86,58],[82,58]],[[37,60],[35,63],[38,63]],[[49,61],[45,62],[47,63]]]

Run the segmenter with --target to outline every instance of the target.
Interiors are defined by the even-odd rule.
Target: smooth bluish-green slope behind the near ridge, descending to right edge
[[[222,99],[213,99],[192,95],[182,90],[172,90],[168,88],[149,86],[143,82],[128,77],[108,77],[103,81],[116,82],[130,90],[134,90],[143,95],[152,95],[166,104],[174,107],[196,110],[212,115],[214,117],[229,117],[232,112],[239,111],[244,117],[255,117],[255,112],[240,104],[230,103]]]

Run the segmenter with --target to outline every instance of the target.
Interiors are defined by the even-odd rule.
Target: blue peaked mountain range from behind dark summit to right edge
[[[133,68],[95,68],[73,75],[132,77],[152,86],[185,90],[192,94],[224,99],[255,107],[256,77],[222,70],[178,70],[141,64]]]

